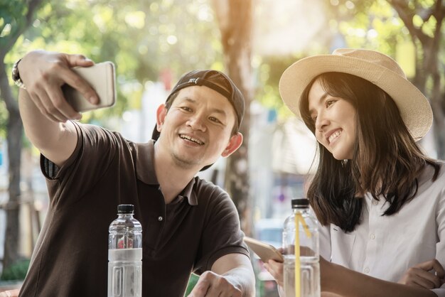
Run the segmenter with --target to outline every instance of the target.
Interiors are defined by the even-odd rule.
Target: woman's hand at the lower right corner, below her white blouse
[[[434,270],[434,273],[431,270]],[[433,259],[409,268],[398,283],[417,288],[439,288],[444,284],[444,276],[444,267]]]

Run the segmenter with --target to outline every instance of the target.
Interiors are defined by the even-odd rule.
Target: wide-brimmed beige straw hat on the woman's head
[[[301,93],[311,80],[324,72],[344,72],[372,82],[394,99],[414,140],[422,139],[433,122],[433,112],[422,92],[414,87],[402,68],[375,50],[338,48],[332,55],[313,55],[287,68],[279,80],[284,103],[300,116]]]

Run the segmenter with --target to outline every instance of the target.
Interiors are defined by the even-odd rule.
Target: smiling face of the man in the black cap
[[[186,87],[178,92],[171,107],[159,112],[160,144],[176,165],[204,166],[225,156],[235,125],[235,110],[229,100],[205,86]],[[228,156],[228,155],[227,155]]]

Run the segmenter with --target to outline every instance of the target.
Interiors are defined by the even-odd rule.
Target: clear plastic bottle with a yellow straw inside
[[[318,245],[318,221],[309,212],[309,200],[292,200],[292,215],[284,221],[283,229],[284,296],[321,295]],[[300,261],[296,261],[296,257]],[[296,269],[298,266],[300,269]],[[295,279],[296,274],[300,276],[299,281]]]

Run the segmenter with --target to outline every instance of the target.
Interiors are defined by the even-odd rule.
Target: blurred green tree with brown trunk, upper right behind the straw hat
[[[331,25],[349,46],[377,48],[395,56],[397,44],[415,49],[412,82],[430,99],[438,158],[445,158],[444,16],[442,0],[333,0]]]

